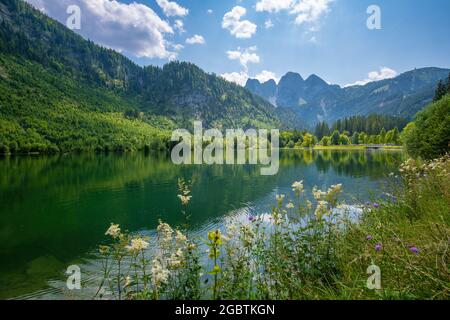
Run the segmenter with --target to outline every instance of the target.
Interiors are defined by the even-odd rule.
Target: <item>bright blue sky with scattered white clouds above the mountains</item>
[[[55,0],[28,1],[60,21],[65,18]],[[61,11],[64,0],[57,2]],[[190,61],[241,83],[246,77],[265,80],[295,71],[304,78],[314,73],[330,83],[346,85],[414,68],[450,67],[448,0],[136,0],[156,14],[150,18],[150,11],[143,7],[128,10],[133,3],[129,0],[116,3],[120,10],[111,9],[109,0],[69,2],[80,3],[82,9],[78,32],[141,65]],[[381,9],[381,30],[366,26],[366,10],[373,4]],[[90,27],[100,17],[91,11],[121,17]],[[131,16],[141,13],[133,22]],[[131,22],[122,22],[126,14],[131,18],[125,20]],[[141,29],[139,24],[149,19],[157,24]],[[118,24],[123,29],[115,33]],[[139,41],[147,43],[141,46]]]

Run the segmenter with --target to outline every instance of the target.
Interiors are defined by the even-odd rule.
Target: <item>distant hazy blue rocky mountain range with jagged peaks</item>
[[[393,79],[347,88],[329,85],[316,75],[304,80],[298,73],[289,72],[275,87],[272,82],[261,84],[250,79],[246,88],[274,106],[295,111],[311,126],[318,121],[374,113],[412,118],[432,100],[438,81],[449,72],[416,69]]]

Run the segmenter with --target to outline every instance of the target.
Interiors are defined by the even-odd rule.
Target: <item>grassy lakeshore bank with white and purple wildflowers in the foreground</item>
[[[154,239],[113,224],[97,297],[449,299],[450,157],[408,160],[401,172],[392,198],[365,204],[357,221],[339,201],[342,185],[314,188],[313,204],[299,181],[294,199],[278,195],[271,213],[237,218],[205,239],[165,223]],[[179,198],[188,217],[184,182]],[[369,289],[369,267],[381,271],[381,288]]]

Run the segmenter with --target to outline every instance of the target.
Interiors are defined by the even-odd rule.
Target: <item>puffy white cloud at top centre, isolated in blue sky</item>
[[[234,7],[223,16],[222,28],[228,29],[238,39],[249,39],[257,30],[257,25],[249,20],[241,20],[247,10],[241,6]]]

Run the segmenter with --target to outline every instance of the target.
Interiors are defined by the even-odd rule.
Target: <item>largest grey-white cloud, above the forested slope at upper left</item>
[[[82,13],[79,33],[105,47],[138,57],[174,57],[164,38],[173,33],[172,27],[146,5],[115,0],[27,1],[64,24],[67,7],[78,5]]]

